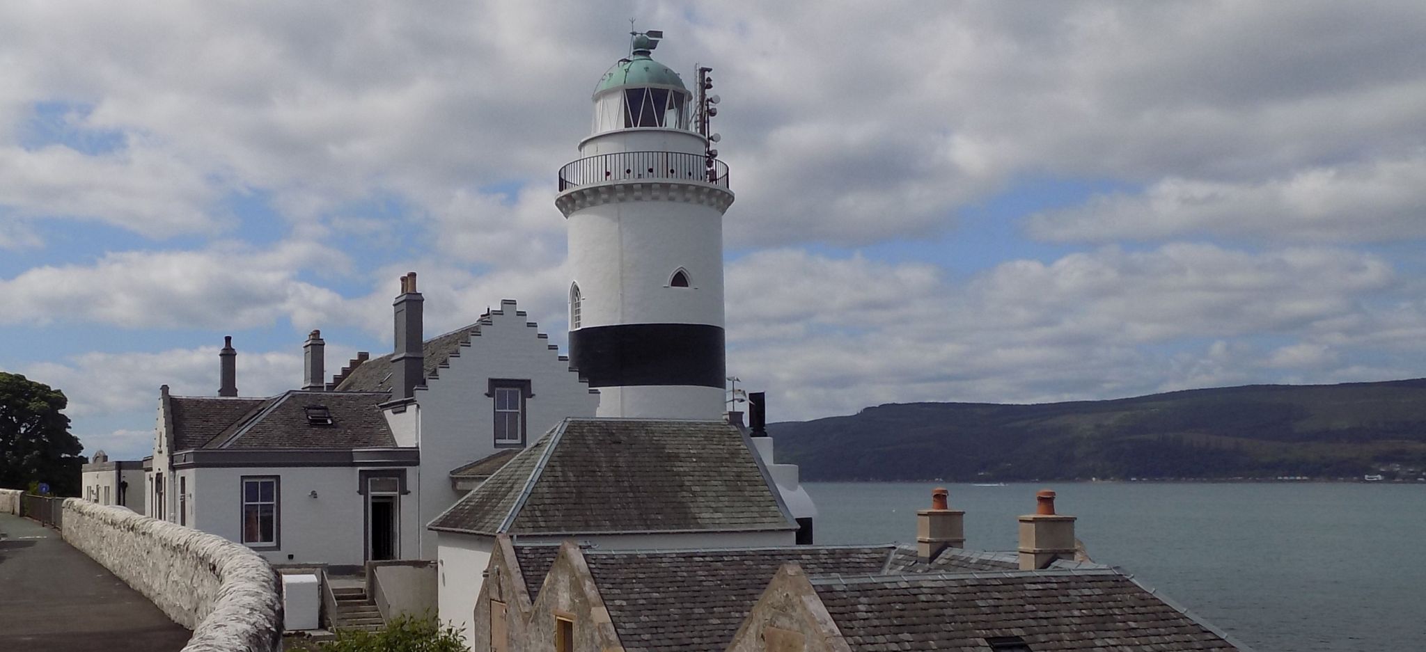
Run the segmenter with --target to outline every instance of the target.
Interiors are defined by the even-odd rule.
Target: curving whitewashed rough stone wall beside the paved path
[[[78,498],[64,501],[63,535],[193,629],[184,652],[281,649],[281,584],[247,547]]]

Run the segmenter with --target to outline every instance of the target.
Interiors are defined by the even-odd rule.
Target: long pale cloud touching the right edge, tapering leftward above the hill
[[[1312,168],[1262,182],[1168,178],[1034,215],[1030,235],[1111,242],[1222,235],[1279,242],[1426,238],[1426,157]]]

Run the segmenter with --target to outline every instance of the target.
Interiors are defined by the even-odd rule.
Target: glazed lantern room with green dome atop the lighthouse
[[[650,54],[659,38],[635,34],[632,53],[620,58],[595,88],[593,134],[632,128],[689,130],[693,94],[683,80]]]

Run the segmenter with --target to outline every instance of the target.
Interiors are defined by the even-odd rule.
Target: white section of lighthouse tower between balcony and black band
[[[569,266],[583,299],[582,327],[723,326],[723,214],[717,208],[610,202],[583,208],[568,222]],[[687,270],[689,288],[669,286],[679,268]]]

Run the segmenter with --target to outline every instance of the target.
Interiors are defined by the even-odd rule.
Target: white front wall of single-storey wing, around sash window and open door
[[[374,468],[388,471],[389,468]],[[356,493],[359,468],[193,468],[188,491],[193,518],[188,525],[228,541],[242,542],[242,477],[277,475],[278,544],[275,550],[254,550],[278,562],[362,564],[366,561],[365,495]],[[180,471],[184,473],[184,471]],[[414,483],[415,468],[406,470]],[[415,485],[399,497],[401,557],[414,558],[424,525],[416,508]],[[317,491],[312,498],[311,493]],[[288,558],[291,555],[291,558]]]

